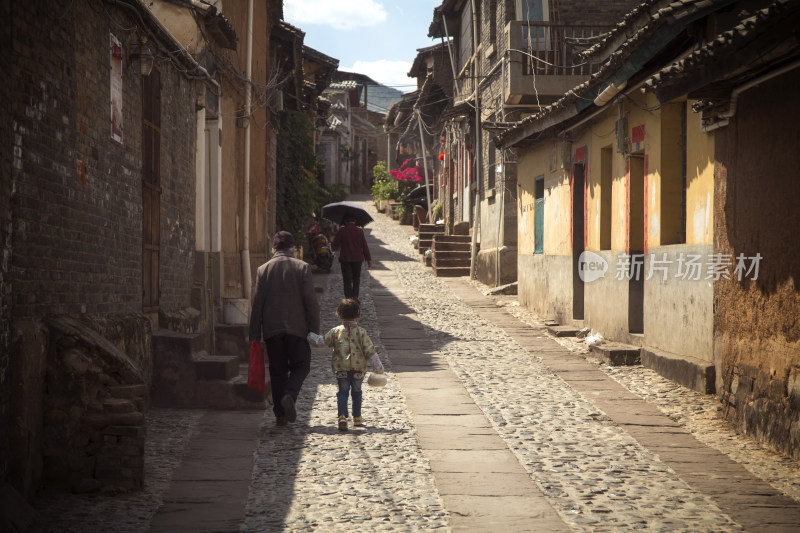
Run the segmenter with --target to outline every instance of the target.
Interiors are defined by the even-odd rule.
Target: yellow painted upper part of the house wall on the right
[[[643,152],[647,157],[646,198],[648,248],[677,242],[680,228],[679,213],[682,180],[682,147],[680,132],[683,127],[683,103],[659,106],[652,95],[636,95],[636,105],[626,103],[623,116],[628,121],[628,139],[632,130],[644,126],[644,141],[631,151]],[[700,131],[700,117],[686,103],[686,244],[713,242],[713,189],[714,189],[714,138]],[[587,149],[587,221],[588,250],[601,249],[603,209],[601,178],[603,175],[603,149],[611,148],[611,249],[625,250],[627,221],[630,207],[626,209],[626,161],[617,152],[615,122],[617,108],[609,107],[605,114],[590,125],[574,131],[572,151]],[[552,150],[556,151],[556,171],[550,171]],[[523,151],[519,162],[520,199],[518,202],[519,250],[521,254],[533,253],[534,235],[534,180],[545,176],[545,228],[544,253],[568,255],[571,253],[569,170],[561,168],[561,144],[543,143]],[[606,152],[608,153],[608,152]],[[663,183],[662,183],[663,180]],[[670,180],[670,181],[668,181]],[[675,181],[677,180],[677,182]],[[678,189],[676,190],[676,183]],[[676,229],[677,228],[677,229]],[[662,239],[662,231],[666,232]],[[662,242],[666,241],[666,242]]]

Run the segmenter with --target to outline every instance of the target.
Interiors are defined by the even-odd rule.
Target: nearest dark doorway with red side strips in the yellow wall
[[[644,333],[644,153],[628,159],[628,332]]]

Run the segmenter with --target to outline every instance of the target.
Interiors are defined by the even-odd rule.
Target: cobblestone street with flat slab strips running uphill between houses
[[[313,348],[297,423],[266,410],[238,441],[253,452],[233,480],[248,494],[238,522],[204,526],[186,506],[171,516],[182,531],[800,531],[800,465],[732,432],[713,397],[593,359],[514,296],[434,277],[411,227],[361,200],[375,265],[360,324],[389,376],[365,385],[366,427],[337,430],[328,349]],[[315,278],[325,332],[341,276]],[[145,490],[46,494],[44,531],[157,530],[207,415],[151,410]],[[208,464],[228,455],[212,451]]]

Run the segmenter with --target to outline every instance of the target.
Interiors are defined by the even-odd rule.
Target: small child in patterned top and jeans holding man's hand
[[[376,374],[383,374],[384,370],[367,330],[356,322],[361,316],[361,304],[358,300],[345,298],[339,302],[336,316],[341,319],[342,325],[326,333],[323,341],[333,348],[331,369],[339,383],[339,392],[336,393],[339,431],[347,431],[348,396],[353,398],[353,425],[364,425],[364,417],[361,416],[361,385],[367,371],[367,362],[372,363],[372,371]]]

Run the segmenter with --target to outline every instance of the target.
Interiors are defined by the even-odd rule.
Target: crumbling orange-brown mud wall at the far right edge
[[[761,254],[753,274],[714,283],[714,363],[723,413],[800,459],[800,103],[796,70],[742,93],[715,132],[714,253]],[[782,117],[775,120],[774,117]],[[750,266],[750,261],[746,262]]]

